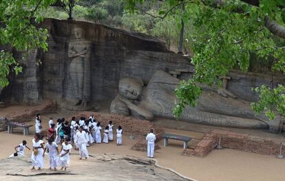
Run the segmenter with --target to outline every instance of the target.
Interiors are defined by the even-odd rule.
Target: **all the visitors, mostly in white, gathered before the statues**
[[[32,152],[32,169],[38,167],[40,170],[43,168],[43,158],[45,152],[48,152],[50,159],[50,169],[56,170],[56,167],[61,167],[61,169],[67,168],[70,164],[70,153],[72,150],[72,144],[75,149],[79,151],[79,159],[88,158],[87,147],[92,143],[101,143],[101,123],[94,119],[94,115],[91,115],[89,119],[85,120],[85,117],[81,117],[80,120],[76,121],[75,117],[72,117],[72,121],[69,124],[65,119],[58,119],[56,121],[56,128],[54,121],[50,119],[50,128],[47,132],[47,144],[45,145],[41,136],[41,116],[36,115],[36,134],[32,140],[33,152]],[[109,124],[105,127],[103,132],[103,143],[109,143],[113,141],[113,123],[109,121]],[[117,146],[122,144],[122,134],[123,129],[120,125],[116,129],[116,143]],[[147,134],[147,157],[154,158],[154,142],[156,141],[156,136],[154,130],[150,130]],[[59,151],[59,145],[61,144],[61,150]],[[16,153],[12,156],[22,156],[24,155],[25,148],[30,149],[27,146],[27,142],[23,141],[20,145],[15,147]]]

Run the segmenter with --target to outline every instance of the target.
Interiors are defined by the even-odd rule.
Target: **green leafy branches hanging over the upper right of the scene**
[[[127,0],[126,8],[136,12],[143,3],[145,0]],[[239,67],[247,71],[251,54],[261,60],[271,60],[271,71],[284,73],[284,47],[280,47],[273,36],[284,42],[285,1],[166,0],[165,3],[169,10],[160,11],[162,18],[183,3],[185,11],[180,19],[193,24],[193,32],[187,38],[194,53],[191,63],[195,72],[176,88],[178,99],[173,109],[176,117],[182,114],[185,106],[196,106],[202,93],[198,84],[219,86],[219,77],[231,69]],[[265,110],[270,119],[276,110],[285,115],[282,107],[284,87],[281,84],[277,87],[264,85],[255,91],[260,94],[258,101],[252,104],[255,112]]]

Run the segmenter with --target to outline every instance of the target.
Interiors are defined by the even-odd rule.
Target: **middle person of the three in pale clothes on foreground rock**
[[[48,143],[44,147],[43,157],[45,157],[45,151],[48,149],[48,156],[50,158],[50,169],[54,169],[56,171],[56,158],[59,154],[59,149],[56,143],[52,138],[48,139]]]

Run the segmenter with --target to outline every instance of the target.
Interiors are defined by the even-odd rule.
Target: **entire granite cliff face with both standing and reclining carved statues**
[[[13,52],[23,73],[10,77],[0,101],[34,105],[53,99],[63,110],[92,110],[97,101],[112,101],[120,95],[112,102],[111,112],[148,120],[173,119],[174,89],[193,72],[189,58],[168,51],[165,43],[151,36],[105,25],[45,19],[40,26],[49,30],[49,50],[30,51],[25,60]],[[224,89],[204,88],[198,107],[186,108],[180,119],[276,131],[282,118],[268,121],[249,106],[257,99],[251,88],[270,80],[270,75],[232,71]],[[274,80],[278,84],[285,79]]]

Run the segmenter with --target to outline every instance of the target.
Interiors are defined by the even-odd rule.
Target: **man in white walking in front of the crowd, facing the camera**
[[[76,146],[79,148],[79,155],[80,159],[88,158],[88,151],[87,151],[87,143],[88,138],[85,131],[83,131],[83,127],[79,128],[79,131],[75,135]]]

